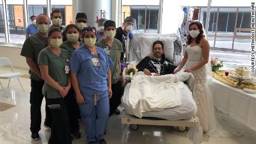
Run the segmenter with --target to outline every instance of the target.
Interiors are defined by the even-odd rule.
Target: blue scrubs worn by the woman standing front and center
[[[114,66],[103,48],[96,47],[98,56],[91,53],[86,46],[76,49],[70,59],[70,70],[77,74],[80,91],[85,104],[78,105],[81,118],[85,123],[88,142],[104,138],[109,120],[109,96],[107,87],[107,71]],[[93,66],[92,59],[99,59],[100,66]]]

